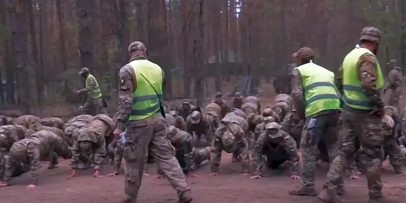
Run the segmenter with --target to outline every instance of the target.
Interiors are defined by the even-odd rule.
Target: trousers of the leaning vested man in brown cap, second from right
[[[306,119],[300,139],[300,151],[302,153],[302,185],[314,187],[316,162],[321,151],[319,143],[323,142],[329,156],[333,160],[339,149],[339,112],[332,111]],[[343,185],[343,179],[340,180]]]

